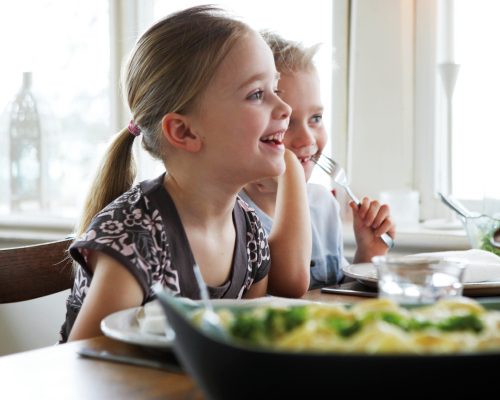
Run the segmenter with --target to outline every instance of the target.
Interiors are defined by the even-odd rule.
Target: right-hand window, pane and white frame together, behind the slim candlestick
[[[492,0],[416,2],[415,184],[425,218],[447,212],[438,191],[473,210],[500,212],[499,12]],[[449,116],[438,72],[444,62],[459,66]]]

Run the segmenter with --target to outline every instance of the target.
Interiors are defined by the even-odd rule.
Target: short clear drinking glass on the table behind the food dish
[[[461,296],[465,263],[461,260],[420,256],[377,256],[379,297],[399,304],[430,304]]]

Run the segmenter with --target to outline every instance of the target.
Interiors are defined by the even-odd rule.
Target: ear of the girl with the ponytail
[[[201,149],[201,138],[191,130],[189,120],[181,114],[168,113],[161,120],[165,139],[174,147],[195,153]]]

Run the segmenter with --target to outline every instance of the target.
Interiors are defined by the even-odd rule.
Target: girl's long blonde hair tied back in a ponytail
[[[251,29],[211,5],[188,8],[155,23],[138,40],[122,74],[124,97],[142,145],[165,160],[161,120],[169,112],[186,114],[214,76],[220,63]],[[85,232],[92,218],[134,183],[134,136],[119,132],[102,161],[87,196],[78,226]]]

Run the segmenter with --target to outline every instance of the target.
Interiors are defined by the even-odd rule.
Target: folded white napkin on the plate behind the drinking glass
[[[500,257],[486,250],[437,251],[416,255],[464,261],[466,263],[464,283],[500,282]]]

